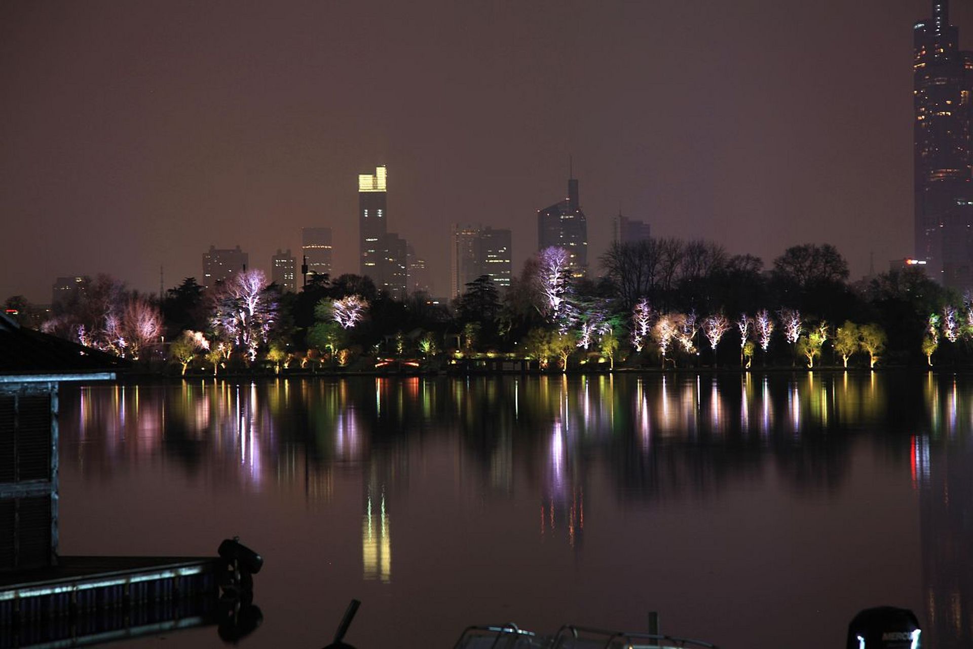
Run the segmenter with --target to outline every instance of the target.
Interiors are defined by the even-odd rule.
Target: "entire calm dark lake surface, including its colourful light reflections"
[[[973,642],[973,377],[65,385],[60,420],[62,554],[239,534],[267,559],[247,647],[320,647],[351,597],[360,649],[650,610],[817,649],[878,604],[915,610],[925,646]]]

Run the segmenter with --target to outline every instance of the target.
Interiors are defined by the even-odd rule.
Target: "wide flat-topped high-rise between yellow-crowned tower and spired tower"
[[[510,286],[513,272],[509,230],[453,224],[450,231],[451,297],[459,296],[468,283],[481,275],[489,275],[499,288]]]

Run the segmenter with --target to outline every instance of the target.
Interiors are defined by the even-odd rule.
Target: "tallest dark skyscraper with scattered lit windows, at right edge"
[[[914,28],[916,259],[946,286],[973,286],[970,93],[973,53],[959,50],[947,0]]]

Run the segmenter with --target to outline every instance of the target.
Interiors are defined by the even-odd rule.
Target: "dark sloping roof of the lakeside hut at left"
[[[125,366],[111,354],[26,329],[0,313],[0,375],[93,374]]]

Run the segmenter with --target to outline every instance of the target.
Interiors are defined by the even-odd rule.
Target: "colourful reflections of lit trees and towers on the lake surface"
[[[430,474],[435,497],[528,500],[529,513],[507,515],[578,554],[610,499],[656,508],[758,486],[838,498],[864,439],[919,495],[935,646],[973,641],[973,381],[961,377],[203,380],[69,388],[61,417],[62,462],[87,478],[171,459],[212,488],[296,492],[308,503],[330,503],[342,481],[357,481],[361,575],[382,588],[393,583],[390,512]],[[396,543],[416,533],[404,524]]]

